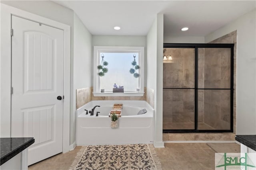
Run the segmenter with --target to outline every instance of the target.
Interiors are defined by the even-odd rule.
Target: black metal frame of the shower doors
[[[163,88],[163,89],[194,89],[194,129],[163,129],[163,133],[225,133],[233,132],[234,119],[234,44],[204,43],[164,43],[164,48],[195,49],[195,87],[194,88]],[[198,88],[198,48],[230,48],[230,88]],[[198,130],[198,90],[230,90],[230,129]]]

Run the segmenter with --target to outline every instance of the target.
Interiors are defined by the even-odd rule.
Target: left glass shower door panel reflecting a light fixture
[[[195,49],[168,48],[165,55],[163,129],[194,129]]]

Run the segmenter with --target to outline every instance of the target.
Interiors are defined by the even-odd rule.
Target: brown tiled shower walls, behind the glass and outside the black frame
[[[236,31],[210,43],[234,43],[234,89],[236,87]],[[194,51],[166,49],[173,60],[164,63],[164,88],[194,88]],[[194,49],[193,49],[194,50]],[[189,60],[187,57],[190,57]],[[178,59],[180,58],[180,59]],[[187,66],[186,64],[189,64]],[[230,88],[230,49],[198,49],[198,87]],[[192,90],[193,91],[193,90]],[[190,94],[189,94],[190,93]],[[190,97],[188,97],[190,95]],[[185,97],[186,96],[186,97]],[[234,122],[236,122],[236,93],[234,91]],[[192,100],[189,100],[192,98]],[[163,122],[188,123],[194,119],[194,92],[163,90]],[[193,107],[191,107],[193,106]],[[190,109],[188,109],[190,108]],[[230,128],[230,91],[198,90],[198,123],[214,129]],[[165,125],[165,124],[164,124]],[[165,128],[164,128],[165,129]],[[235,123],[234,123],[235,132]]]

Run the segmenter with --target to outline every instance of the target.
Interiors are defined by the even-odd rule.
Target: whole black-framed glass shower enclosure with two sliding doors
[[[234,44],[164,43],[163,132],[233,132]]]

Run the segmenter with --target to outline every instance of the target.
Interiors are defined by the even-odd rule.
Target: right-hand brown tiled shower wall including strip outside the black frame
[[[236,133],[236,31],[228,33],[209,43],[234,43],[234,106],[233,106],[233,129]],[[230,49],[214,49],[211,52],[205,49],[205,76],[210,74],[210,80],[204,81],[204,87],[230,88]],[[206,57],[212,57],[212,61]],[[210,64],[211,63],[211,64]],[[218,68],[217,68],[218,67]],[[216,129],[228,129],[230,127],[230,91],[229,90],[205,90],[204,92],[204,121]],[[210,104],[211,103],[211,104]],[[206,109],[207,108],[207,109]],[[215,116],[213,116],[216,114]],[[214,121],[212,121],[215,119]]]

